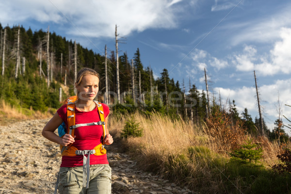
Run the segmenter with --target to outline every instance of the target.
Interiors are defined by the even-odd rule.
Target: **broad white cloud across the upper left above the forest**
[[[175,28],[182,12],[180,1],[4,0],[0,2],[0,21],[10,25],[27,20],[69,23],[68,34],[89,37],[112,37],[117,24],[120,35],[126,36],[149,28]]]

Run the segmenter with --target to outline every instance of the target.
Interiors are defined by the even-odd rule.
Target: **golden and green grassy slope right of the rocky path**
[[[155,172],[199,193],[288,193],[290,175],[277,175],[271,166],[278,163],[281,148],[265,138],[253,141],[263,149],[259,165],[229,162],[230,151],[222,140],[207,135],[206,125],[171,120],[159,114],[133,114],[144,129],[142,137],[124,140],[125,148],[139,161],[140,168]],[[119,136],[127,116],[110,118],[111,132]],[[223,129],[221,129],[223,130]],[[233,133],[233,131],[232,131]],[[250,138],[236,137],[238,144]],[[233,137],[232,137],[233,138]]]

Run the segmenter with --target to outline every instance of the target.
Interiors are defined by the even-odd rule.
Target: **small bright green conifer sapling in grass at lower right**
[[[246,140],[245,144],[241,145],[241,148],[235,149],[229,155],[232,161],[242,163],[257,163],[263,155],[262,148],[258,148],[257,144],[252,143],[252,140]]]

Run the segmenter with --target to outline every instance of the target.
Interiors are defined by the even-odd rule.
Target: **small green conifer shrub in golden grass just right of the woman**
[[[142,137],[143,130],[140,128],[139,123],[137,123],[133,116],[125,122],[125,126],[121,132],[121,137],[128,138],[128,137]]]

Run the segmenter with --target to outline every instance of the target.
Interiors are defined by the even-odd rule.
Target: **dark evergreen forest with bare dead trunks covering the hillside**
[[[205,91],[198,91],[190,80],[187,83],[190,90],[185,91],[185,83],[180,85],[169,78],[167,69],[155,79],[152,69],[143,65],[138,48],[133,59],[124,52],[117,60],[114,51],[106,56],[95,53],[76,41],[49,32],[49,28],[32,32],[22,26],[10,28],[0,24],[0,97],[5,102],[40,111],[49,107],[57,109],[61,105],[60,88],[69,88],[66,93],[62,90],[62,100],[74,95],[75,71],[82,67],[93,68],[99,73],[98,100],[109,104],[115,112],[158,112],[194,123],[227,114],[233,123],[240,122],[246,132],[259,135],[260,119],[253,120],[247,108],[240,116],[235,100],[232,103],[229,100],[228,108],[222,107],[214,98],[208,99]],[[289,141],[282,119],[275,121],[275,129],[268,129],[264,121],[263,126],[269,139]]]

